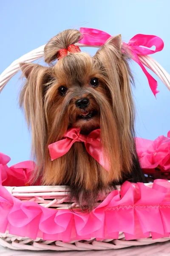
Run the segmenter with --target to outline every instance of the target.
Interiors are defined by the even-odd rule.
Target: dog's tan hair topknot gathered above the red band
[[[57,59],[60,49],[67,49],[69,45],[77,43],[82,39],[82,34],[76,29],[67,29],[51,38],[44,48],[44,60],[51,64]]]

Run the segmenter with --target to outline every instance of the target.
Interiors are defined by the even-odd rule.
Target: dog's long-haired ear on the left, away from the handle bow
[[[44,114],[44,96],[50,81],[54,79],[52,67],[33,63],[20,63],[23,76],[26,77],[20,92],[20,107],[24,109],[28,127],[31,126],[32,152],[40,166],[44,159],[47,131]]]

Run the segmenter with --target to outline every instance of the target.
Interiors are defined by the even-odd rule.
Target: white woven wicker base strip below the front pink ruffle
[[[40,238],[33,240],[27,237],[12,236],[8,233],[0,233],[0,244],[4,247],[15,250],[111,250],[136,245],[154,244],[157,242],[164,242],[169,240],[170,237],[154,240],[152,238],[145,238],[137,239],[135,241],[126,241],[124,234],[120,233],[119,239],[107,239],[102,241],[96,241],[96,239],[91,239],[86,241],[81,240],[65,243],[62,241],[45,241]]]

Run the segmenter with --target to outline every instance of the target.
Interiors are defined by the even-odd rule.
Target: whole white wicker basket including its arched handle
[[[79,47],[85,47],[87,45],[76,44]],[[96,46],[95,46],[96,47]],[[7,82],[14,76],[20,69],[20,62],[33,62],[43,57],[44,46],[39,47],[26,55],[23,55],[16,61],[14,61],[1,75],[0,75],[0,91],[3,90]],[[163,83],[170,90],[170,75],[150,56],[139,55],[139,60],[163,81]],[[151,184],[145,184],[145,186],[152,186]],[[14,198],[18,198],[22,202],[34,201],[45,208],[68,209],[68,207],[79,207],[75,202],[69,204],[67,196],[69,194],[69,188],[65,186],[26,186],[26,187],[5,187],[8,192]],[[118,190],[120,187],[118,186]],[[104,198],[103,198],[104,199]],[[146,206],[144,206],[146,207]],[[154,205],[154,207],[157,207]],[[168,206],[166,206],[168,207]],[[15,250],[109,250],[118,249],[124,247],[130,247],[135,245],[147,245],[156,242],[168,241],[170,237],[164,237],[159,239],[149,238],[136,239],[133,241],[126,241],[124,233],[119,233],[118,239],[105,239],[96,241],[95,238],[62,242],[62,241],[48,241],[43,240],[41,237],[36,239],[30,239],[28,237],[11,235],[6,233],[0,233],[0,244],[4,247],[9,247]]]

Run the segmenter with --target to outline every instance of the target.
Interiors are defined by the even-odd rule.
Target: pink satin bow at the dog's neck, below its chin
[[[89,135],[80,134],[79,128],[69,129],[62,140],[48,145],[51,160],[65,155],[75,142],[84,142],[88,153],[106,170],[108,169],[104,160],[102,145],[100,142],[100,129],[92,131]]]

